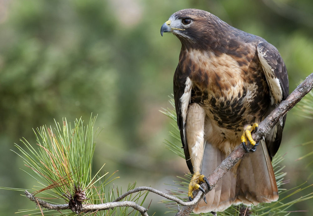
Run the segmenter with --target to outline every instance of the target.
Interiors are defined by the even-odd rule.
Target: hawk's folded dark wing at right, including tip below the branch
[[[285,63],[280,56],[280,53],[272,44],[268,42],[260,42],[257,47],[259,60],[263,67],[263,71],[269,85],[269,91],[272,101],[270,111],[272,111],[278,103],[285,100],[289,95],[288,74]],[[269,156],[272,159],[276,154],[282,137],[286,121],[286,115],[281,124],[275,125],[266,138],[266,145],[269,151]]]

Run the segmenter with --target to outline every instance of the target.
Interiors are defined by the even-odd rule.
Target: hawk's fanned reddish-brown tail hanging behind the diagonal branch
[[[208,176],[226,158],[217,148],[206,144],[201,173]],[[203,200],[193,210],[194,213],[220,212],[232,204],[245,205],[272,202],[278,199],[275,175],[266,144],[262,140],[256,152],[246,154],[225,174],[212,191],[206,194],[208,204]]]

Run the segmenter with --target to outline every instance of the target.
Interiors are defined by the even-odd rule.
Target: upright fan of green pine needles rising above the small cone
[[[94,122],[95,118],[90,119],[89,125],[84,127],[83,121],[76,119],[72,128],[64,119],[62,125],[55,122],[54,129],[42,126],[34,130],[37,148],[25,138],[21,140],[22,146],[15,145],[20,151],[16,154],[23,158],[25,165],[35,174],[24,171],[40,183],[34,194],[49,189],[67,201],[67,196],[73,195],[74,187],[92,188],[96,178],[91,176],[95,151]]]

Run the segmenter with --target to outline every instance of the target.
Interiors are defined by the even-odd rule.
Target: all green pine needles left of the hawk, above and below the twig
[[[92,175],[92,160],[95,151],[94,124],[96,117],[90,118],[85,126],[84,121],[76,119],[72,126],[66,119],[60,125],[55,122],[55,128],[42,126],[34,130],[36,145],[31,145],[26,139],[22,139],[23,145],[15,145],[18,154],[28,169],[23,171],[36,180],[37,185],[33,189],[27,189],[37,198],[48,201],[51,204],[66,204],[73,199],[75,193],[82,192],[86,199],[82,204],[102,204],[112,202],[121,195],[122,189],[113,184],[116,172],[100,174],[101,169]],[[127,190],[134,189],[136,183],[129,184]],[[17,191],[24,189],[2,188]],[[131,194],[123,201],[133,201],[142,204],[147,192]],[[49,209],[24,209],[19,213],[27,215],[77,215],[70,210]],[[80,215],[138,215],[132,208],[120,207],[94,213],[81,213]]]

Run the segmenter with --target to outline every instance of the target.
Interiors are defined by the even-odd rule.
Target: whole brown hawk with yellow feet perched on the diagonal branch
[[[289,94],[285,63],[266,40],[213,14],[180,10],[161,27],[182,43],[174,74],[174,100],[187,166],[193,174],[188,196],[235,147],[257,145],[251,132]],[[278,199],[271,160],[285,117],[254,153],[246,154],[193,210],[224,211],[232,204],[256,205]],[[244,145],[245,147],[245,145]],[[256,148],[254,147],[254,150]]]

